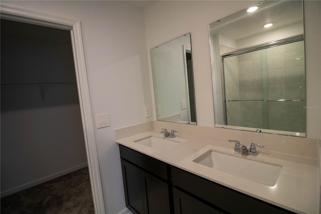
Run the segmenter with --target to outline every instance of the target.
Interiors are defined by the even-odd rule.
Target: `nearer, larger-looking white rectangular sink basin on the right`
[[[275,185],[282,169],[279,164],[249,160],[215,150],[209,150],[193,161],[268,186]]]

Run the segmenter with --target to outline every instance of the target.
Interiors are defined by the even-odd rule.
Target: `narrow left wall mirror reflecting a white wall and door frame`
[[[150,50],[156,120],[196,125],[191,34]]]

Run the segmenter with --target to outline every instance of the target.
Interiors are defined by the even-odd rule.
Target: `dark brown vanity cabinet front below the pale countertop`
[[[133,213],[293,213],[119,145]]]

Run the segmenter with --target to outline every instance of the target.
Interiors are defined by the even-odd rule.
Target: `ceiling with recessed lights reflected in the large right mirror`
[[[272,28],[263,28],[270,22],[273,23]],[[215,35],[219,32],[237,41],[298,22],[303,22],[301,1],[265,1],[253,13],[243,10],[212,23],[210,33]]]

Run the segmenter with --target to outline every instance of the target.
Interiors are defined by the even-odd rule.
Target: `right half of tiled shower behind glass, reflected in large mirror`
[[[268,100],[305,100],[304,42],[269,48]],[[270,101],[269,128],[305,132],[305,101]]]

